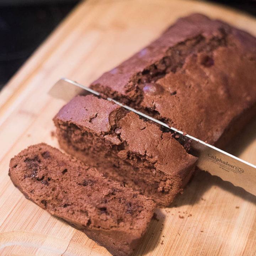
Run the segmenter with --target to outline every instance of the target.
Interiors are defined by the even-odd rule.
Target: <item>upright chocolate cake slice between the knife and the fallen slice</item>
[[[166,207],[190,179],[196,157],[170,132],[92,95],[77,96],[54,117],[61,148]]]

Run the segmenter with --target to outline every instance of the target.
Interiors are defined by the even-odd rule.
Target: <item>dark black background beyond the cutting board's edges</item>
[[[8,1],[4,1],[8,3]],[[0,90],[39,44],[79,2],[0,5]],[[254,0],[212,0],[256,16]],[[0,0],[1,3],[1,0]]]

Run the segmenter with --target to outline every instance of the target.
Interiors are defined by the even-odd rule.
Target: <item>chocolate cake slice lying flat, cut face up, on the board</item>
[[[117,256],[133,252],[155,209],[152,199],[43,143],[12,158],[9,175],[26,198]]]

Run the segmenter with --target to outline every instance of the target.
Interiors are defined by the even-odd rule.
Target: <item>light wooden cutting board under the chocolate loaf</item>
[[[28,145],[57,146],[52,118],[64,104],[47,95],[60,77],[89,85],[180,16],[202,12],[256,35],[256,20],[206,2],[87,0],[78,5],[0,93],[0,255],[109,256],[11,183],[12,156]],[[28,28],[29,29],[29,28]],[[256,164],[256,122],[231,150]],[[157,209],[134,255],[256,255],[256,197],[197,172],[170,208]]]

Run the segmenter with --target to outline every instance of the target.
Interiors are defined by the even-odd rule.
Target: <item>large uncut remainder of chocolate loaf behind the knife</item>
[[[221,147],[256,114],[255,74],[256,38],[193,14],[90,87]]]

